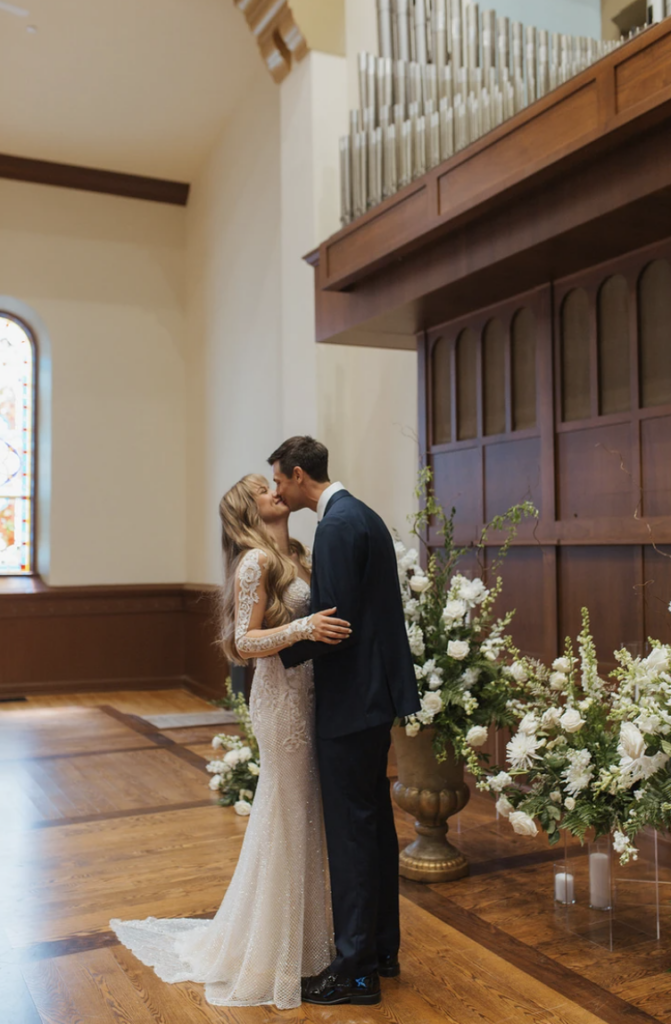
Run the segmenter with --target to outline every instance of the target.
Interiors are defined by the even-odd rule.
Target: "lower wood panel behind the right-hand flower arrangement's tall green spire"
[[[587,607],[599,659],[613,663],[622,643],[640,640],[642,595],[637,546],[562,547],[558,554],[559,640],[580,633]]]

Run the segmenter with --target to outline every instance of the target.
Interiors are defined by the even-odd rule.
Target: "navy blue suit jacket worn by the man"
[[[311,610],[333,607],[351,637],[337,646],[303,640],[280,655],[288,669],[314,662],[318,735],[344,736],[419,711],[393,542],[347,490],[327,505],[312,552]]]

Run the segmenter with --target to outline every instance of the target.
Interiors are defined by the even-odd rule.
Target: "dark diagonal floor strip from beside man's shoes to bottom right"
[[[402,896],[548,988],[600,1017],[605,1024],[659,1024],[658,1018],[651,1017],[472,911],[463,909],[429,886],[407,879],[400,881]],[[598,1010],[595,1010],[597,1004]]]

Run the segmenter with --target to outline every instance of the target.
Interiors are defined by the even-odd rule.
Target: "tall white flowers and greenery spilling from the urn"
[[[491,573],[493,585],[488,588],[481,580],[470,580],[457,571],[465,549],[455,546],[455,510],[448,516],[435,500],[430,469],[420,472],[416,496],[420,509],[410,517],[411,532],[426,547],[424,537],[432,526],[443,543],[427,549],[426,569],[420,566],[417,549],[408,550],[401,541],[395,544],[406,629],[422,706],[401,724],[410,736],[432,727],[438,761],[445,760],[446,746],[451,743],[467,770],[479,776],[485,772],[486,757],[477,748],[486,742],[489,727],[515,721],[502,660],[510,645],[506,629],[513,613],[494,617],[494,604],[502,590],[497,571],[519,523],[538,513],[525,502],[494,519],[483,531],[480,550],[490,529],[506,535]]]

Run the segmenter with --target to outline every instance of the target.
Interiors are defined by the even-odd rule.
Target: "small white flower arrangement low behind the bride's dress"
[[[211,761],[207,770],[212,773],[210,790],[220,794],[219,803],[246,817],[251,812],[258,785],[258,743],[245,697],[234,692],[230,679],[226,679],[226,692],[225,707],[235,712],[242,736],[229,736],[225,732],[215,736],[214,750],[226,753],[220,760]]]

